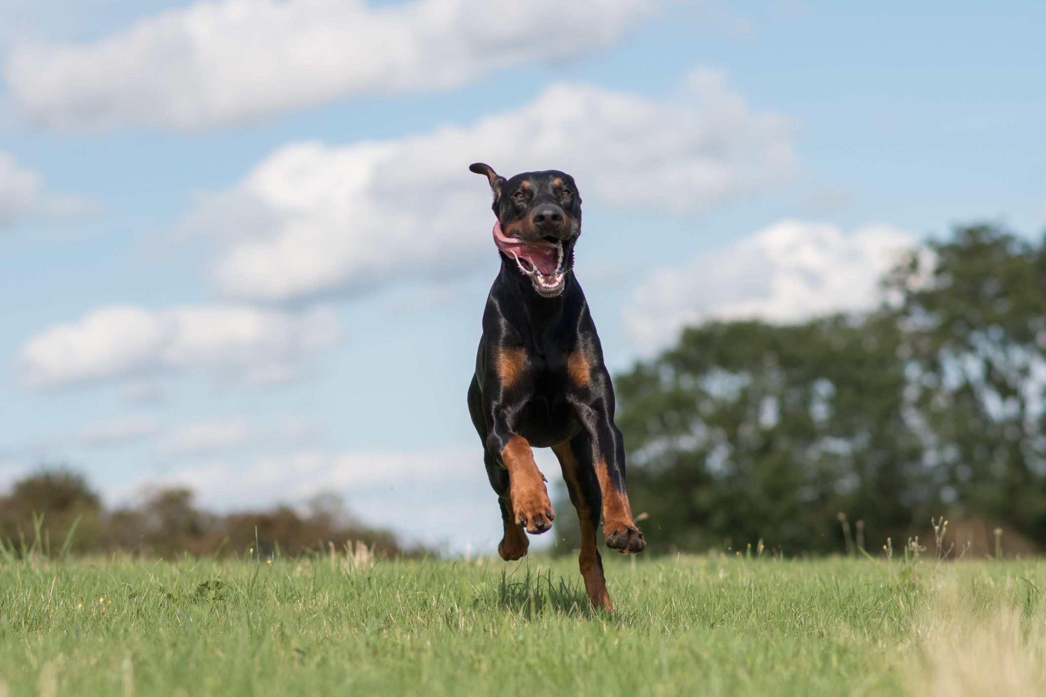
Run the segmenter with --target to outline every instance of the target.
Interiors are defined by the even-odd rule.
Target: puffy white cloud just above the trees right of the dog
[[[870,308],[882,299],[882,275],[914,245],[885,225],[844,234],[827,224],[775,223],[682,269],[652,273],[624,309],[626,327],[654,349],[709,318],[795,322]]]

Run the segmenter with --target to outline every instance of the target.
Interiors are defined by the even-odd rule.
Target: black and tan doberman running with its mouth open
[[[602,517],[607,547],[642,552],[624,489],[624,444],[614,424],[614,388],[582,286],[572,273],[582,198],[558,170],[499,177],[481,162],[494,192],[494,240],[501,271],[483,310],[469,412],[498,494],[506,561],[526,554],[523,530],[551,527],[552,505],[531,446],[560,460],[582,534],[581,571],[595,608],[613,610],[596,549]]]

